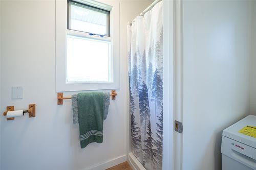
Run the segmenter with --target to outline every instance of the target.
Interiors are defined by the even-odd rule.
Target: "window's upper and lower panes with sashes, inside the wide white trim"
[[[109,14],[68,1],[67,83],[112,82]]]

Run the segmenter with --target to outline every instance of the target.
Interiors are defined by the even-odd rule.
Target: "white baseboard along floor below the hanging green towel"
[[[91,167],[88,167],[84,170],[102,170],[102,169],[108,169],[110,167],[116,166],[120,163],[123,163],[127,160],[127,155],[123,155],[105,162],[101,162],[99,164],[93,165]]]

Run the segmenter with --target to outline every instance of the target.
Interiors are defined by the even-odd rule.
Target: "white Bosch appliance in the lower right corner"
[[[249,115],[222,133],[222,170],[256,170],[256,138],[238,131],[256,127],[256,116]]]

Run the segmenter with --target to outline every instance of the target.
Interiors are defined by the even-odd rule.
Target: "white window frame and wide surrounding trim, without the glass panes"
[[[119,3],[112,1],[76,0],[110,11],[110,37],[91,36],[90,38],[111,41],[112,54],[112,82],[67,82],[66,76],[66,54],[67,54],[67,34],[88,37],[88,33],[67,29],[68,2],[56,0],[56,91],[86,91],[119,89]]]

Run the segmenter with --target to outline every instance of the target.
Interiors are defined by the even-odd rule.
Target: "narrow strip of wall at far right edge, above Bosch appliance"
[[[250,114],[256,115],[256,1],[252,1]]]

